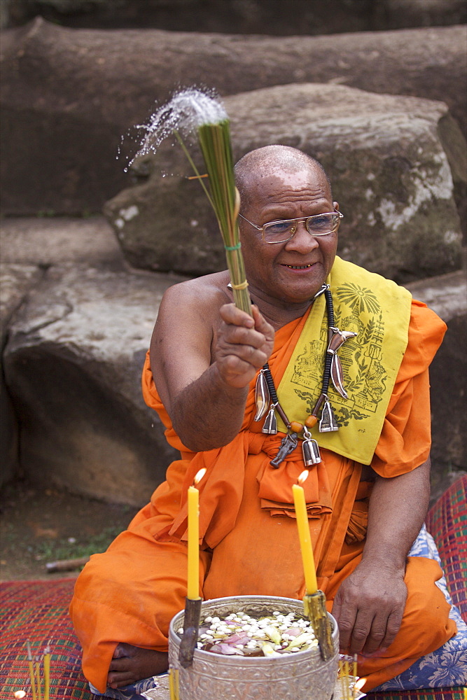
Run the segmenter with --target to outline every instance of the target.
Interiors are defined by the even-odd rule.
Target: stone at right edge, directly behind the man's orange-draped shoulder
[[[430,367],[432,500],[467,468],[467,281],[459,270],[407,286],[447,323]]]

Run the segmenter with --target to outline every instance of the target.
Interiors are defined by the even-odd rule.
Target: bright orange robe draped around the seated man
[[[276,333],[270,368],[278,386],[306,314]],[[412,302],[409,342],[393,388],[372,468],[382,477],[423,463],[430,448],[428,365],[445,325],[421,302]],[[118,642],[167,651],[172,617],[186,596],[186,489],[200,484],[200,589],[204,599],[244,594],[300,599],[305,593],[291,485],[303,469],[298,447],[279,469],[270,468],[281,435],[264,435],[253,422],[254,383],[244,423],[230,444],[193,453],[174,433],[154,385],[148,358],[143,392],[166,426],[181,459],[104,554],[95,554],[78,577],[71,617],[83,646],[83,671],[100,692]],[[416,397],[416,400],[414,398]],[[200,419],[202,416],[199,416]],[[305,482],[319,587],[329,608],[342,582],[361,560],[371,484],[361,465],[329,450]],[[409,557],[407,604],[396,640],[382,654],[360,659],[365,689],[376,687],[440,647],[455,632],[449,605],[435,581],[435,561]]]

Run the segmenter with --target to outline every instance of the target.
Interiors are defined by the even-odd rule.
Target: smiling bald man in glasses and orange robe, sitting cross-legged
[[[236,179],[253,316],[232,303],[227,271],[165,293],[143,392],[181,458],[76,582],[83,671],[103,694],[167,670],[169,623],[186,596],[186,489],[202,466],[202,597],[303,597],[291,486],[307,426],[320,451],[304,484],[316,575],[365,690],[456,632],[438,563],[407,557],[428,507],[428,365],[445,325],[407,290],[337,258],[342,216],[318,162],[267,146],[239,161]],[[335,386],[322,384],[329,337],[342,341]],[[291,429],[281,416],[277,433],[255,421],[266,363],[298,437],[277,468]],[[320,433],[323,386],[331,428]]]

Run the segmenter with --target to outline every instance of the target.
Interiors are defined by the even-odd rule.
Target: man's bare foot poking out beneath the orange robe
[[[164,673],[167,668],[169,668],[167,653],[120,643],[113,652],[107,685],[113,689],[132,685],[143,678]]]

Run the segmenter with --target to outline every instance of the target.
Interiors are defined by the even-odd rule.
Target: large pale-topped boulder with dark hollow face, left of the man
[[[178,279],[48,269],[11,323],[4,355],[31,479],[146,503],[175,453],[141,397],[141,368],[162,293]]]

